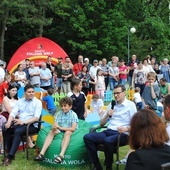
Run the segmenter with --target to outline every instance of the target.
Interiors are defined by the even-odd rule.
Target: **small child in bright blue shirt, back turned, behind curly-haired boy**
[[[48,92],[48,96],[45,96],[45,97],[42,97],[43,93],[41,92],[41,100],[45,101],[46,102],[46,105],[47,105],[47,109],[48,109],[48,112],[54,116],[54,114],[56,113],[57,111],[57,107],[55,106],[54,104],[54,98],[52,97],[53,93],[54,93],[54,89],[52,88],[49,88],[47,90]]]

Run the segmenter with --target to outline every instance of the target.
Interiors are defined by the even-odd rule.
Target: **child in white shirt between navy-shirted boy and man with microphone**
[[[103,116],[103,111],[102,111],[102,107],[104,106],[103,104],[103,100],[100,99],[100,96],[98,94],[94,94],[92,97],[92,101],[91,101],[91,111],[93,113],[98,113],[100,117]]]

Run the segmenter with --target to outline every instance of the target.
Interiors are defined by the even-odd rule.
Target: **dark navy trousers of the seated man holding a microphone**
[[[113,163],[114,147],[117,147],[118,131],[107,129],[102,132],[89,133],[84,136],[85,146],[91,162],[99,162],[97,155],[97,145],[104,144],[105,146],[105,165],[111,167]],[[120,146],[128,143],[128,135],[122,134],[120,137]]]

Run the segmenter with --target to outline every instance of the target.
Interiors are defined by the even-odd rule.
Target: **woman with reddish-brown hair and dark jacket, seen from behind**
[[[128,156],[125,170],[160,170],[170,162],[169,137],[162,120],[149,109],[137,112],[130,124],[129,144],[134,152]]]

